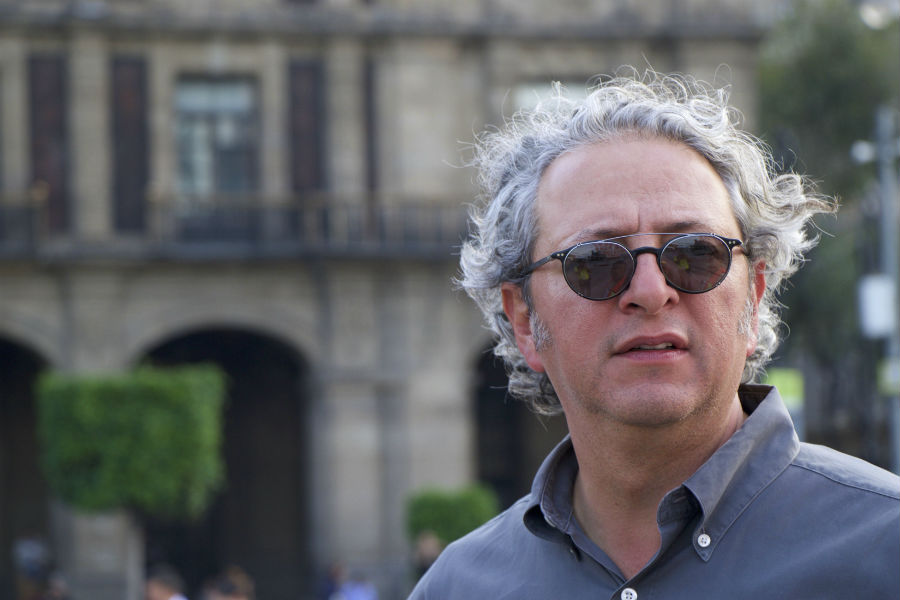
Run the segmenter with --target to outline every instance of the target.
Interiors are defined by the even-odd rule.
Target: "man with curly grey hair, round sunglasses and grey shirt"
[[[510,392],[570,435],[411,598],[900,597],[900,480],[747,383],[832,205],[689,78],[551,104],[479,140],[461,284]]]

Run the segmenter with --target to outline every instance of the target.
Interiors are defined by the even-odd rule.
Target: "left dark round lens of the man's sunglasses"
[[[575,293],[591,300],[605,300],[628,286],[634,262],[619,244],[590,242],[569,251],[563,271]]]

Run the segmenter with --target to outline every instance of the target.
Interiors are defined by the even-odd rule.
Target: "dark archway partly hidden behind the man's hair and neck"
[[[475,369],[478,480],[507,507],[531,490],[541,462],[566,435],[561,416],[538,417],[507,394],[503,363],[485,351]]]

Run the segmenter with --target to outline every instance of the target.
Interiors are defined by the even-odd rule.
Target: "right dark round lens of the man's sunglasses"
[[[669,242],[660,256],[666,279],[685,292],[706,292],[728,273],[728,246],[711,235],[691,235]]]

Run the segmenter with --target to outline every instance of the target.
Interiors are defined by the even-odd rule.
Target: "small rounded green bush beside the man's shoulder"
[[[461,538],[499,512],[497,496],[481,485],[456,491],[426,489],[407,502],[407,530],[415,538],[433,531],[446,545]]]

